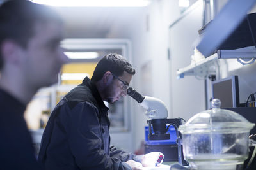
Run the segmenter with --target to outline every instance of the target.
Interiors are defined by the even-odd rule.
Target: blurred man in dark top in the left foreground
[[[29,1],[0,6],[0,169],[40,169],[23,114],[40,87],[58,81],[67,56],[61,18]]]

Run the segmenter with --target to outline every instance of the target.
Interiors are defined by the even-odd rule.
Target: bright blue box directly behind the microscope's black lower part
[[[168,126],[166,126],[167,128]],[[152,129],[152,133],[153,131],[153,127],[151,127]],[[175,128],[171,125],[167,131],[170,134],[170,139],[168,140],[148,140],[148,126],[145,126],[145,144],[147,145],[170,145],[170,144],[177,144],[176,140],[177,140],[177,135],[176,135],[176,131]]]

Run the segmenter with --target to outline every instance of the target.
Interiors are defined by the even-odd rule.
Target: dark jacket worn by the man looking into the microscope
[[[131,169],[135,155],[109,148],[108,108],[89,78],[57,104],[45,128],[38,159],[45,169]]]

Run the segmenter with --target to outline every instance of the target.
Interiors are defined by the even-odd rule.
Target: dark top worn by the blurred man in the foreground
[[[25,109],[26,105],[0,89],[0,169],[41,169],[24,120]]]

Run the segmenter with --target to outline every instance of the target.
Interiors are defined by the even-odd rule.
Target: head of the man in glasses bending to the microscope
[[[100,81],[102,99],[114,103],[127,94],[127,86],[134,74],[135,69],[122,55],[109,53],[97,64],[91,80]]]

